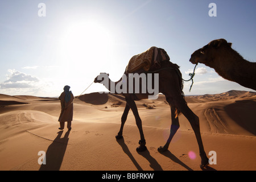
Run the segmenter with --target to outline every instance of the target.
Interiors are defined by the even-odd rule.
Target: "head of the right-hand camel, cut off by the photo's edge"
[[[203,63],[209,65],[210,61],[212,61],[223,48],[231,48],[231,46],[232,43],[228,43],[225,39],[212,40],[209,44],[193,52],[189,61],[193,64]]]

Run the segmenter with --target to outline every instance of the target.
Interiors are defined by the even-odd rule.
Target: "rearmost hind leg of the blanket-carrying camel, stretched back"
[[[184,116],[188,119],[189,123],[192,126],[192,129],[196,135],[196,140],[199,145],[199,152],[200,152],[200,157],[201,157],[201,165],[200,167],[203,168],[205,166],[208,166],[209,164],[209,159],[207,158],[207,155],[205,154],[204,151],[204,146],[203,146],[203,141],[201,138],[200,134],[200,126],[199,126],[199,117],[189,107],[187,104],[185,104],[184,99],[178,100],[179,101],[179,109],[181,113],[184,114]]]

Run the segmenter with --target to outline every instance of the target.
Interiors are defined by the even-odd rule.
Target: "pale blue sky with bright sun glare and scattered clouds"
[[[152,46],[167,51],[184,80],[191,54],[214,39],[255,62],[255,10],[255,0],[1,0],[0,94],[57,97],[69,85],[79,96],[102,72],[118,81],[131,57]],[[193,81],[185,95],[254,91],[204,64]],[[84,93],[101,91],[92,84]]]

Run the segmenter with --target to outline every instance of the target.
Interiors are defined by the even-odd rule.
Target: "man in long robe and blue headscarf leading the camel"
[[[74,96],[71,91],[69,91],[70,86],[64,86],[64,92],[61,93],[59,100],[61,104],[61,113],[59,117],[60,130],[64,129],[65,122],[68,122],[67,128],[71,130],[71,122],[73,120],[73,100]]]

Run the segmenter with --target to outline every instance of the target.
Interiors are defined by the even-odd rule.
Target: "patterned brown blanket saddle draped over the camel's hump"
[[[158,68],[160,67],[160,61],[164,60],[170,60],[164,49],[150,47],[147,51],[131,57],[126,67],[126,73],[134,73],[139,69],[148,71],[152,66]]]

